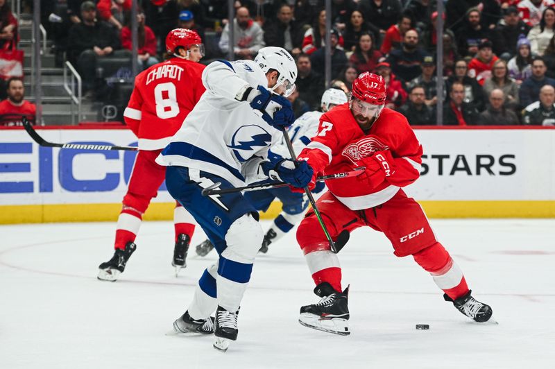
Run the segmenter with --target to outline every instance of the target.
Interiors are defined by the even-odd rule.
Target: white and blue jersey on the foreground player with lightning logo
[[[252,60],[219,60],[205,68],[203,84],[207,91],[156,162],[199,169],[244,186],[257,169],[253,161],[266,158],[282,137],[262,113],[235,99],[246,84],[266,86],[266,76]]]

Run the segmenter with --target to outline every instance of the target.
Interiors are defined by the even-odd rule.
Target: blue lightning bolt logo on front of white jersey
[[[237,128],[231,137],[231,144],[228,145],[228,148],[232,149],[239,162],[246,162],[253,156],[253,152],[257,151],[256,148],[270,146],[271,142],[272,135],[264,128],[250,124]]]

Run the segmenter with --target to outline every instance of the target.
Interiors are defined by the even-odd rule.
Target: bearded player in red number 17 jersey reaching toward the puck
[[[332,239],[348,239],[356,228],[384,232],[398,257],[411,255],[429,272],[444,298],[477,322],[490,319],[492,309],[472,297],[459,266],[438,242],[422,208],[402,187],[420,176],[422,146],[407,119],[384,108],[386,87],[382,76],[361,74],[352,85],[350,101],[323,114],[318,134],[300,153],[316,175],[357,166],[357,177],[327,182],[329,191],[318,199],[318,210]],[[310,185],[309,185],[310,187]],[[314,212],[308,212],[297,230],[316,283],[316,304],[300,308],[299,322],[336,334],[349,334],[348,288],[342,291],[341,266],[331,251]],[[337,248],[341,245],[336,244]]]

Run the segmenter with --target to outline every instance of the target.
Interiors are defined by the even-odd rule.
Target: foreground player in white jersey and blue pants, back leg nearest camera
[[[312,170],[306,163],[268,159],[268,149],[294,121],[284,96],[293,92],[296,77],[293,58],[279,47],[260,49],[255,60],[212,62],[203,71],[205,94],[157,158],[167,166],[169,193],[194,216],[219,253],[173,329],[214,332],[219,350],[237,339],[239,306],[264,232],[257,210],[241,193],[205,197],[201,191],[216,182],[221,189],[242,187],[268,176],[307,186]]]

